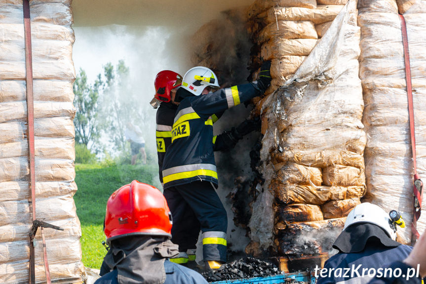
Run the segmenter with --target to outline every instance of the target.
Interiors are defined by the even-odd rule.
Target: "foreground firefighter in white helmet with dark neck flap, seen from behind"
[[[405,259],[413,247],[395,241],[397,224],[405,226],[400,216],[392,220],[375,204],[357,205],[333,244],[339,252],[325,262],[322,275],[316,269],[316,283],[367,284],[374,277],[373,271],[379,273],[384,265]]]

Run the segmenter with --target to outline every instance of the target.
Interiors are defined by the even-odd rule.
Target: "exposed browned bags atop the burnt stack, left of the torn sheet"
[[[255,1],[248,8],[248,30],[256,44],[252,48],[252,78],[256,78],[263,60],[272,61],[271,86],[265,95],[296,72],[318,40],[316,25],[331,23],[342,7],[316,5],[316,1],[273,0]],[[321,30],[321,36],[324,32]]]

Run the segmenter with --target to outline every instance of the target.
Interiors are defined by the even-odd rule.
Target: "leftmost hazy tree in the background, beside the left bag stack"
[[[76,117],[74,118],[76,142],[84,144],[86,147],[89,146],[89,143],[92,146],[98,142],[100,136],[100,127],[97,118],[99,90],[102,85],[100,74],[95,83],[90,85],[87,82],[86,72],[81,68],[74,82],[74,106],[77,110]]]

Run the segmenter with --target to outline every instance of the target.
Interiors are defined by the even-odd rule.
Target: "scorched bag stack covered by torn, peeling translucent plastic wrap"
[[[281,255],[329,251],[365,193],[356,17],[351,0],[295,74],[263,101],[262,173],[272,177]]]

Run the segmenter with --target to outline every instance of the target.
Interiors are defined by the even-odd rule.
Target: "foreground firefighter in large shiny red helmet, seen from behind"
[[[164,196],[136,180],[108,199],[104,232],[109,251],[95,284],[207,284],[197,272],[168,260],[172,217]]]

